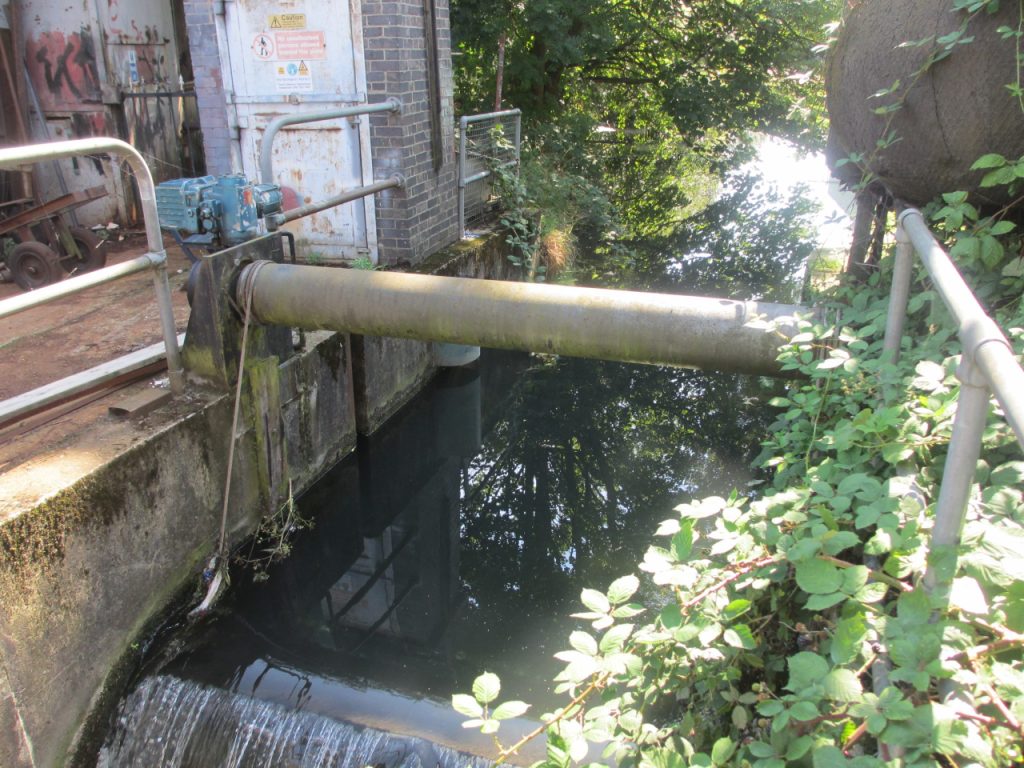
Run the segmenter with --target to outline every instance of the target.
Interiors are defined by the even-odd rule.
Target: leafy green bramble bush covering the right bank
[[[988,220],[979,234],[981,217],[946,210],[965,203],[931,212],[947,243],[1010,232]],[[988,298],[1018,352],[1019,253],[1012,236],[998,261],[979,251],[966,264],[994,271]],[[599,750],[640,768],[1024,759],[1024,461],[993,407],[959,551],[929,551],[959,346],[919,275],[902,356],[883,354],[889,268],[841,285],[822,315],[835,322],[800,321],[782,349],[806,379],[770,403],[770,485],[679,506],[642,582],[584,590],[588,629],[556,654],[568,701],[530,734],[546,731],[545,768]],[[929,567],[951,588],[926,591]],[[503,744],[500,722],[526,705],[492,708],[499,693],[484,674],[453,703],[496,734],[504,762],[522,741]]]

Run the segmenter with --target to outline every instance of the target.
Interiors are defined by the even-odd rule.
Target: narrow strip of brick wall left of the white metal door
[[[217,48],[215,0],[184,0],[185,28],[196,76],[196,100],[199,105],[207,173],[231,172],[231,135],[227,127],[224,81],[220,74]]]

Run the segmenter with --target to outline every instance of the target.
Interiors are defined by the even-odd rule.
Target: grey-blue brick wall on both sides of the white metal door
[[[237,137],[219,55],[224,41],[218,40],[218,5],[214,0],[184,0],[184,10],[207,167],[210,173],[238,172],[238,161],[231,157]],[[416,264],[458,240],[449,3],[362,0],[361,18],[367,100],[395,96],[402,101],[400,115],[371,118],[375,179],[400,173],[407,182],[404,189],[377,196],[379,260]],[[429,76],[428,48],[436,58],[435,82]],[[310,111],[315,109],[309,105]]]

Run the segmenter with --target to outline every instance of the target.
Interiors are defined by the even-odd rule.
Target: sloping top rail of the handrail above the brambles
[[[921,211],[907,208],[897,221],[910,237],[935,290],[956,321],[964,355],[984,374],[1017,441],[1024,447],[1024,371],[1014,356],[1013,347],[932,237]]]

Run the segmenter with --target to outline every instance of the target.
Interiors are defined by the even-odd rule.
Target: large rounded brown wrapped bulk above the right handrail
[[[916,205],[956,189],[1005,205],[1006,187],[979,188],[983,172],[971,165],[988,153],[1024,155],[1024,111],[1007,87],[1018,84],[1018,5],[982,8],[957,38],[969,14],[952,0],[854,4],[825,75],[836,175],[853,185],[869,170]],[[939,60],[929,65],[930,57]],[[859,167],[837,167],[851,154],[861,156]]]

